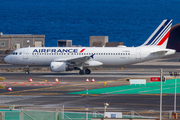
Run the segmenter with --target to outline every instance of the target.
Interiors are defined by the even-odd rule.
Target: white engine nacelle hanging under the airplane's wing
[[[63,72],[63,71],[74,70],[73,66],[70,66],[65,62],[51,62],[50,67],[52,72]]]

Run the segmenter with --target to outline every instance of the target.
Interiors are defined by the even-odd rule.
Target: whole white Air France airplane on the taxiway
[[[138,47],[27,47],[13,51],[4,61],[14,65],[50,66],[52,72],[79,70],[90,74],[89,67],[134,64],[175,54],[166,49],[172,20],[163,20],[144,44]]]

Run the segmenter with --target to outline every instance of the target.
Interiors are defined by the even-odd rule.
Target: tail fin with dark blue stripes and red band
[[[171,26],[172,20],[163,20],[142,46],[159,46],[160,48],[166,48]]]

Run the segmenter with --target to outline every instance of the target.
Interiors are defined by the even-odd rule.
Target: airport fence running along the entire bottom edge
[[[71,111],[71,112],[70,112]],[[108,110],[113,112],[114,110]],[[122,111],[122,118],[159,118],[159,111]],[[180,112],[177,112],[177,117]],[[164,111],[162,117],[171,119],[173,112]],[[19,110],[1,110],[0,120],[91,120],[103,118],[103,109],[62,109],[62,108],[23,108]]]

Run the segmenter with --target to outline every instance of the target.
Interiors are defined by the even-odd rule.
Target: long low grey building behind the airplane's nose
[[[45,35],[32,34],[3,34],[0,33],[0,50],[16,50],[23,47],[43,47]]]

